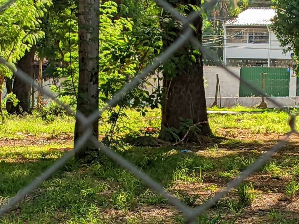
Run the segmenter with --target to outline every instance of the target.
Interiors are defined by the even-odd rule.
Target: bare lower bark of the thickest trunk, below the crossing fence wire
[[[166,99],[162,107],[161,127],[178,129],[180,117],[185,120],[192,119],[193,124],[208,121],[203,69],[200,64],[194,63],[173,79],[163,80]],[[211,133],[208,123],[201,126],[200,134]]]

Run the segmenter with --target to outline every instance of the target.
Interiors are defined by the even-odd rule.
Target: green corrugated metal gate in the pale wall
[[[262,72],[265,74],[265,92],[269,96],[289,96],[290,70],[288,68],[241,67],[240,77],[261,90]],[[240,82],[239,96],[260,96],[260,94]]]

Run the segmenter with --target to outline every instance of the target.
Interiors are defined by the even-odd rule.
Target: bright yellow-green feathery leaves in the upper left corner
[[[12,7],[0,13],[0,56],[11,65],[15,65],[26,51],[45,36],[41,30],[41,18],[51,4],[50,0],[17,0]],[[12,72],[0,65],[0,96],[5,77],[11,78]],[[16,102],[12,94],[8,97]],[[2,106],[2,97],[0,97],[0,113],[3,122]]]

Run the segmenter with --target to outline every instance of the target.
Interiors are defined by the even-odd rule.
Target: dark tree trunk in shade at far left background
[[[35,47],[31,47],[29,52],[26,52],[21,60],[17,63],[17,67],[25,72],[28,76],[32,77],[33,62]],[[31,86],[25,84],[18,76],[15,76],[13,82],[13,93],[19,99],[19,103],[14,107],[11,103],[7,104],[6,110],[8,113],[22,114],[30,112],[30,90]]]

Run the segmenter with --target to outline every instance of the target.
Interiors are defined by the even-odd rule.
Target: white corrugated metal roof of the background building
[[[270,25],[275,14],[275,10],[271,8],[248,8],[224,25]]]

